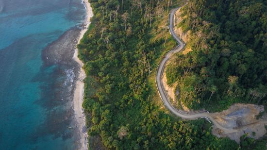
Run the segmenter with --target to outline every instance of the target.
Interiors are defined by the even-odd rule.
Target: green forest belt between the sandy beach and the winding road
[[[211,134],[204,119],[168,114],[155,89],[155,71],[176,46],[167,16],[182,0],[89,0],[94,17],[78,45],[86,72],[83,108],[89,148],[117,150],[266,149],[242,137],[241,145]],[[259,144],[258,144],[259,143]]]

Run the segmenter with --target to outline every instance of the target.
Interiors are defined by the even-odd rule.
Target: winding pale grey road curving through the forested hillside
[[[169,31],[172,35],[172,37],[178,42],[178,46],[176,48],[174,48],[173,50],[170,50],[167,52],[167,54],[165,55],[165,58],[160,62],[159,67],[157,68],[157,72],[156,72],[156,85],[157,85],[157,89],[159,92],[159,95],[161,97],[161,100],[163,101],[165,107],[173,114],[175,114],[176,116],[182,117],[184,119],[197,119],[197,118],[201,118],[201,117],[206,117],[209,120],[211,120],[213,122],[213,124],[221,129],[222,131],[224,131],[224,133],[233,133],[239,130],[235,130],[235,129],[227,129],[222,127],[213,117],[211,117],[211,115],[207,112],[201,112],[201,113],[196,113],[196,114],[184,114],[182,111],[174,108],[171,103],[168,100],[168,96],[167,93],[165,91],[165,88],[163,86],[162,83],[162,75],[163,75],[163,71],[164,68],[166,66],[166,62],[167,60],[174,54],[177,52],[181,52],[184,49],[184,43],[180,40],[179,37],[177,37],[177,35],[174,33],[173,30],[173,18],[174,18],[174,14],[177,10],[179,10],[180,7],[172,9],[169,13]]]

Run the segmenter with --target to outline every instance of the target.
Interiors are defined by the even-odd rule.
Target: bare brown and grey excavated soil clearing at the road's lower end
[[[211,116],[225,128],[237,129],[234,133],[224,133],[214,128],[212,133],[217,137],[229,137],[240,142],[240,136],[248,133],[249,137],[259,139],[266,134],[265,125],[267,125],[267,117],[264,115],[257,120],[257,115],[264,111],[264,107],[254,104],[236,103],[229,109],[222,112],[213,113]]]

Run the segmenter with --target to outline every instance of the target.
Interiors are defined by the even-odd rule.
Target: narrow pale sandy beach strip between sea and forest
[[[83,38],[83,34],[87,31],[88,26],[90,25],[90,18],[93,17],[93,10],[91,8],[91,4],[88,2],[88,0],[83,0],[83,4],[86,6],[86,12],[87,17],[85,20],[85,26],[84,29],[81,31],[78,43],[80,43],[80,40]],[[85,115],[83,114],[83,91],[84,91],[84,83],[83,79],[85,78],[85,72],[83,70],[83,62],[78,58],[78,49],[75,49],[73,59],[79,63],[80,70],[78,74],[78,80],[76,81],[76,88],[74,91],[74,113],[75,117],[78,122],[78,128],[80,131],[81,139],[80,144],[81,148],[80,150],[87,150],[87,131],[85,130]],[[84,129],[83,129],[84,128]]]

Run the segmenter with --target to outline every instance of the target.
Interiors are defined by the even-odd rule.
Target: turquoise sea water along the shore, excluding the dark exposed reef
[[[81,0],[0,0],[1,150],[77,148],[66,128],[70,98],[59,94],[72,85],[73,66],[46,64],[43,50],[84,15]]]

